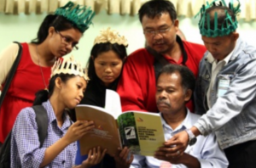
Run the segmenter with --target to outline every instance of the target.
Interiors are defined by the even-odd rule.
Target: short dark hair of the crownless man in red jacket
[[[143,6],[138,11],[141,23],[143,22],[144,15],[147,15],[148,18],[154,19],[155,16],[160,15],[162,13],[170,14],[172,21],[177,19],[176,9],[173,3],[167,0],[148,1],[147,3],[144,3]]]

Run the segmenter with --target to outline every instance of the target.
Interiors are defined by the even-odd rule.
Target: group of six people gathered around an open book
[[[254,167],[256,48],[236,31],[239,12],[239,1],[203,5],[203,46],[177,35],[172,2],[150,0],[138,12],[147,47],[127,56],[125,36],[102,30],[83,69],[73,57],[62,57],[78,49],[94,13],[72,2],[57,8],[36,39],[21,43],[20,64],[0,107],[0,143],[12,131],[10,167]],[[0,53],[2,89],[18,52],[14,43]],[[77,141],[94,122],[76,120],[73,109],[104,107],[106,89],[119,93],[123,111],[160,113],[166,142],[154,157],[127,147],[118,155],[100,147],[80,154]],[[48,115],[42,146],[32,105]]]

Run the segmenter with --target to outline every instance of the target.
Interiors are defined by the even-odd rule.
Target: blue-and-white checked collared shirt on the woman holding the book
[[[61,127],[57,125],[55,113],[49,100],[42,105],[48,115],[48,123],[45,123],[48,124],[48,135],[44,140],[43,147],[39,148],[38,125],[33,109],[31,107],[22,109],[15,120],[11,137],[11,167],[39,167],[44,160],[46,148],[63,137],[71,126],[72,121],[69,120],[67,114],[63,115],[63,125]],[[45,167],[72,167],[76,150],[76,143],[69,144]]]

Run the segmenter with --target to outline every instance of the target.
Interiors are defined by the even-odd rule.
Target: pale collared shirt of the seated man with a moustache
[[[166,140],[170,139],[177,132],[182,132],[183,130],[190,128],[199,118],[200,115],[192,114],[188,109],[186,118],[179,126],[177,126],[177,128],[175,128],[175,130],[173,130],[172,127],[169,126],[166,123],[166,120],[164,120],[164,118],[161,116]],[[226,159],[223,150],[218,147],[216,137],[213,134],[210,134],[207,137],[197,137],[196,143],[193,146],[188,146],[185,153],[197,158],[197,160],[199,160],[201,163],[201,168],[225,168],[228,166],[228,160]],[[156,168],[165,163],[166,161],[157,160],[151,156],[135,155],[134,160],[131,163],[131,168]],[[172,164],[171,167],[185,168],[186,166]]]

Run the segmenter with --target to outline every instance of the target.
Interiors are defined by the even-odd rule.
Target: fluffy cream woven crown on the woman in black
[[[110,27],[106,30],[102,30],[99,36],[96,36],[94,40],[94,45],[99,43],[118,43],[119,45],[128,46],[128,42],[125,36],[120,36],[118,31],[110,30]]]

